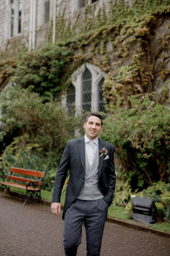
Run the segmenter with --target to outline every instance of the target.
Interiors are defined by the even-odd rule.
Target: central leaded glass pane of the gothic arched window
[[[91,73],[87,68],[82,75],[82,109],[91,111]]]

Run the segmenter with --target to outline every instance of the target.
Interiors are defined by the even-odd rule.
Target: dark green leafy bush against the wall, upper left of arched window
[[[71,51],[67,47],[46,46],[41,50],[27,52],[17,58],[11,81],[23,88],[39,93],[44,100],[62,91],[60,82],[69,63]]]

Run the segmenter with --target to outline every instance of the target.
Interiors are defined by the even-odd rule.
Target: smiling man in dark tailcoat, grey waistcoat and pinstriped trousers
[[[62,187],[70,170],[62,214],[66,256],[77,255],[83,224],[87,256],[100,256],[105,220],[116,183],[113,145],[98,138],[102,116],[88,114],[84,128],[85,136],[68,140],[54,182],[51,210],[58,216]]]

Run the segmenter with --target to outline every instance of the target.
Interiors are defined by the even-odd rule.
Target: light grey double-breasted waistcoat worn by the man
[[[93,164],[90,168],[85,150],[85,182],[77,195],[81,200],[97,200],[103,198],[98,185],[99,147],[97,147]]]

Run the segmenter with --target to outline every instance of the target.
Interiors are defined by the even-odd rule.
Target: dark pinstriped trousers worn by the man
[[[108,204],[103,198],[86,201],[76,199],[65,212],[63,245],[66,256],[76,256],[85,225],[87,256],[100,256]]]

